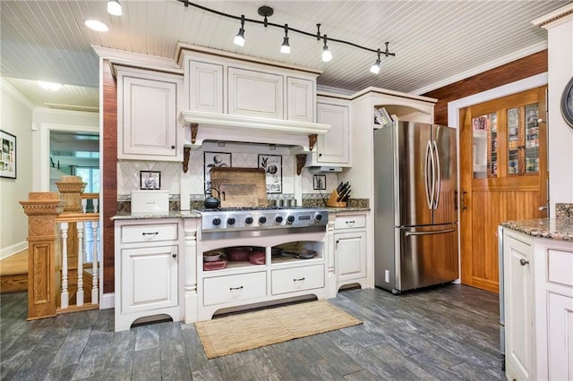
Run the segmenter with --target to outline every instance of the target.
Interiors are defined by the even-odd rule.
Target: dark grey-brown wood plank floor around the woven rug
[[[363,320],[326,334],[207,360],[195,326],[114,332],[114,310],[26,321],[27,294],[0,295],[3,380],[496,380],[498,295],[459,284],[330,301]],[[301,322],[304,324],[304,322]]]

